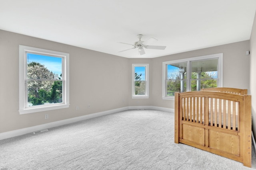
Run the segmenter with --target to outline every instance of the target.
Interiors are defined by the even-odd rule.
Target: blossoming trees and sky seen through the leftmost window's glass
[[[27,56],[28,106],[61,103],[62,74],[54,73],[42,64],[45,63],[52,67],[50,63],[53,61],[52,58],[56,57],[35,54]],[[58,64],[61,64],[61,61]]]

